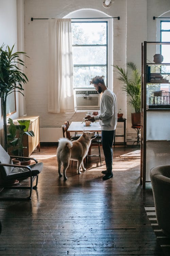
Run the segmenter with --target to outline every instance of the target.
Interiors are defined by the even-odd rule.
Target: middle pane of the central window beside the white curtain
[[[106,46],[75,46],[73,63],[76,64],[106,64]]]

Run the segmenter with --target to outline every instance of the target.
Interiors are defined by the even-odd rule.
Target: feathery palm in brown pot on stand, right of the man
[[[123,82],[123,91],[125,91],[129,96],[128,104],[132,105],[135,109],[135,113],[132,113],[132,126],[141,125],[141,73],[137,69],[136,65],[133,62],[127,62],[126,66],[130,69],[131,73],[128,73],[128,70],[125,68],[118,67],[113,65],[116,68],[119,76],[118,80]]]

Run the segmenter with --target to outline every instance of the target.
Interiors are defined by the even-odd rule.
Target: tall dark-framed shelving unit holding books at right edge
[[[170,42],[145,41],[141,49],[140,184],[143,188],[150,181],[150,170],[154,166],[169,163],[170,141],[164,139],[170,139],[170,63],[167,63],[168,59],[153,62],[154,54],[162,54],[159,45],[167,45],[166,50],[170,51]]]

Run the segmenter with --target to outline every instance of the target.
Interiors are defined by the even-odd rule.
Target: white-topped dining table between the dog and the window
[[[99,124],[99,121],[91,123],[90,126],[86,126],[85,122],[71,122],[71,124],[69,125],[69,127],[67,129],[68,132],[75,132],[75,133],[77,133],[77,132],[83,133],[83,130],[90,131],[90,132],[95,131],[97,133],[99,155],[87,155],[87,159],[88,159],[88,157],[91,157],[91,156],[100,157],[100,166],[102,166],[101,155],[100,155],[100,141],[99,141],[99,132],[101,132],[101,126]]]

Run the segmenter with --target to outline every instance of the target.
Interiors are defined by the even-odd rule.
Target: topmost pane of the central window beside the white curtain
[[[83,22],[71,24],[72,44],[106,44],[106,23]]]

